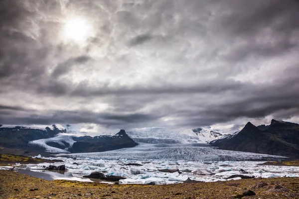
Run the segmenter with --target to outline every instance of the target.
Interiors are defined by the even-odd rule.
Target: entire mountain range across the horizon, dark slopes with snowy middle
[[[240,132],[212,127],[187,130],[155,127],[91,137],[68,129],[59,124],[46,128],[0,125],[0,153],[88,153],[134,147],[138,143],[201,143],[230,151],[299,158],[299,124],[275,119],[270,125],[255,126],[248,122]]]

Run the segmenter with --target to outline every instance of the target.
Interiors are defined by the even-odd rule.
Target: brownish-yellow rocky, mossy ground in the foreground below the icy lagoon
[[[246,192],[247,190],[247,192]],[[251,190],[252,192],[248,192]],[[246,193],[255,194],[244,196]],[[0,171],[0,199],[299,199],[298,178],[246,179],[165,186],[45,181]]]

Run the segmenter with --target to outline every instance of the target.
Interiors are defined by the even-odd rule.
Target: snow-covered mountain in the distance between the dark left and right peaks
[[[215,139],[230,136],[234,132],[202,127],[195,129],[169,130],[161,127],[141,128],[128,131],[136,142],[152,144],[209,143]]]

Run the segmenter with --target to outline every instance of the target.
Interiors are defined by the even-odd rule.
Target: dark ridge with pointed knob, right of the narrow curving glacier
[[[73,140],[76,142],[73,144],[72,148],[69,149],[71,153],[101,152],[135,147],[138,145],[127,135],[125,130],[121,130],[113,136],[82,136],[73,137]]]

